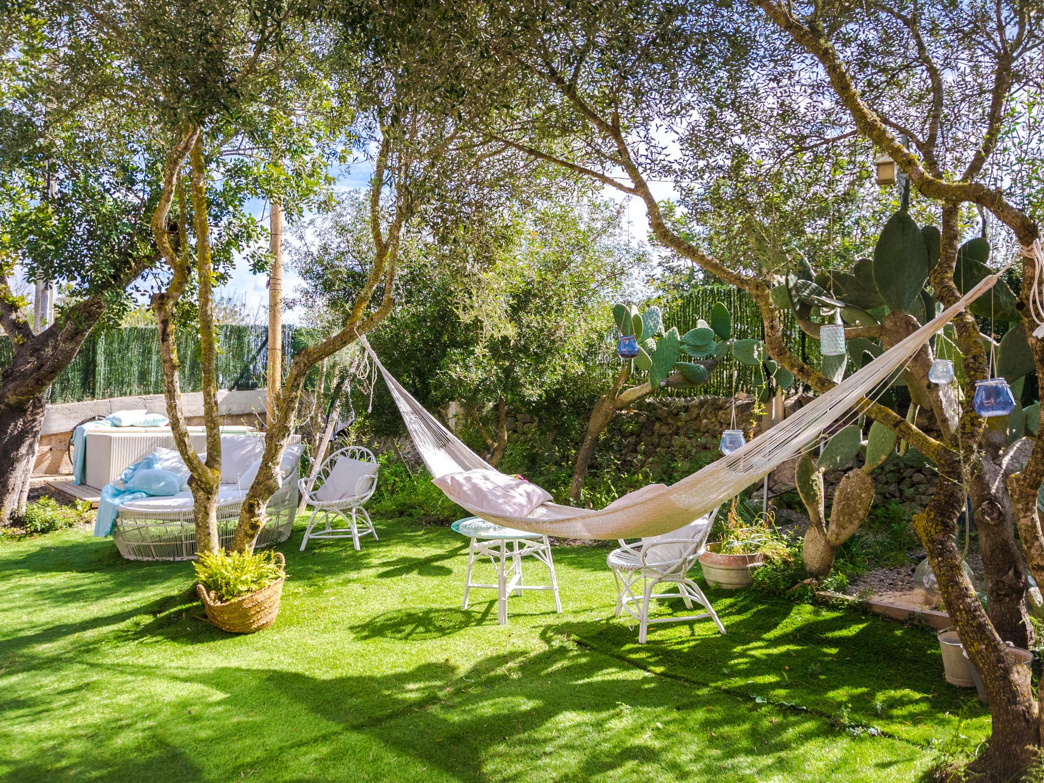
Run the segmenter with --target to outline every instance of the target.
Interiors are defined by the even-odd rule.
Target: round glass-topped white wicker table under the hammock
[[[468,574],[464,585],[464,608],[468,609],[468,594],[472,588],[497,591],[497,622],[507,624],[507,596],[521,595],[524,590],[550,590],[554,594],[554,609],[562,612],[559,597],[559,580],[554,575],[554,561],[547,536],[538,532],[516,530],[480,517],[458,519],[450,527],[471,540],[468,547]],[[550,585],[526,585],[522,578],[522,559],[532,556],[547,566]],[[489,557],[497,572],[497,584],[481,584],[471,580],[475,560]]]

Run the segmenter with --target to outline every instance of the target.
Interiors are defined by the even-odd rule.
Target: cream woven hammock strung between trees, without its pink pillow
[[[799,454],[807,444],[847,412],[863,409],[869,403],[865,399],[868,392],[903,367],[950,318],[988,290],[997,277],[991,275],[984,278],[955,305],[945,309],[939,316],[789,419],[761,433],[732,454],[659,492],[643,494],[643,497],[630,503],[624,496],[612,507],[602,511],[544,503],[527,517],[498,517],[489,512],[464,507],[507,527],[573,539],[632,539],[677,530],[735,497]],[[364,337],[361,341],[384,376],[388,390],[406,423],[406,429],[432,476],[437,478],[447,473],[475,469],[493,470],[402,387],[384,369]]]

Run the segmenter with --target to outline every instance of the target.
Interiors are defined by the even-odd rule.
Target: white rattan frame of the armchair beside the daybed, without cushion
[[[317,498],[316,494],[330,479],[331,472],[342,457],[370,462],[373,465],[373,472],[360,476],[355,487],[338,488],[340,492],[335,494],[342,495],[342,497],[327,500]],[[301,551],[305,551],[310,539],[319,541],[351,538],[356,550],[359,549],[360,537],[373,536],[374,540],[377,540],[374,523],[363,507],[363,504],[373,496],[374,490],[377,489],[377,457],[370,449],[362,446],[349,446],[328,456],[314,478],[303,478],[298,482],[302,500],[306,505],[312,506],[312,515],[308,518],[308,527],[305,528],[305,538],[301,542]],[[347,512],[351,512],[351,517],[348,516]],[[347,528],[334,527],[331,524],[336,523],[338,518],[348,524]],[[323,529],[316,531],[315,527],[319,523],[323,524]]]

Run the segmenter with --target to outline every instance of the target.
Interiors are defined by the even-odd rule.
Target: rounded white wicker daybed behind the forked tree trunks
[[[222,435],[222,453],[227,453]],[[233,435],[232,437],[237,437]],[[238,437],[252,437],[239,435]],[[262,444],[263,435],[257,438]],[[300,440],[300,438],[294,438]],[[267,522],[261,528],[256,548],[272,546],[290,538],[298,513],[300,494],[300,447],[293,453],[288,447],[284,457],[284,476],[280,489],[271,496],[266,511]],[[287,461],[292,461],[286,469]],[[222,466],[224,473],[224,466]],[[224,476],[222,476],[224,477]],[[239,519],[239,508],[248,485],[222,483],[217,493],[217,527],[221,546],[232,545],[232,536]],[[195,525],[192,519],[192,492],[186,490],[167,497],[146,497],[120,505],[113,526],[113,540],[120,554],[127,560],[192,560],[196,555]]]

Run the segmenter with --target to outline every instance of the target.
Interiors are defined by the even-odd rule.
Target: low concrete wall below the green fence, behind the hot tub
[[[243,392],[218,392],[217,407],[222,424],[264,423],[264,389]],[[199,392],[182,395],[189,425],[203,424],[203,394]],[[87,400],[65,405],[49,405],[44,414],[44,427],[37,451],[33,475],[54,476],[72,473],[69,462],[69,440],[76,425],[95,416],[105,417],[117,410],[140,410],[150,413],[167,413],[163,395],[142,397],[114,397],[108,400]]]

